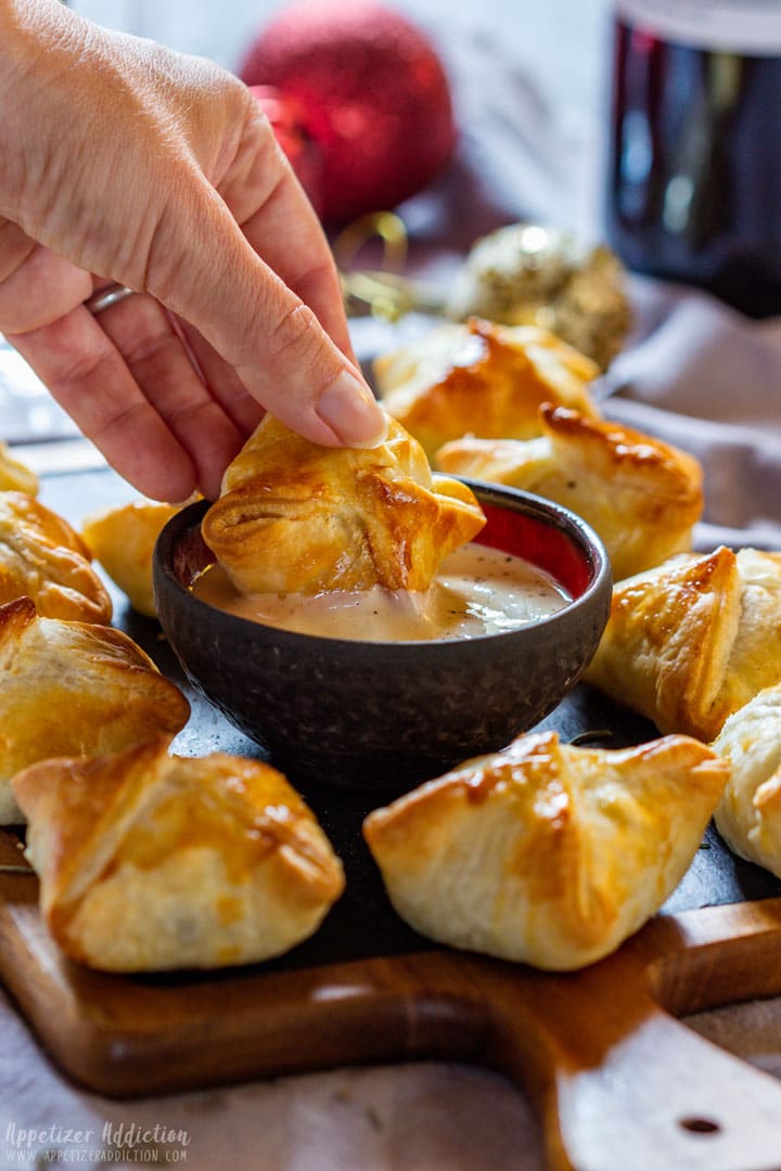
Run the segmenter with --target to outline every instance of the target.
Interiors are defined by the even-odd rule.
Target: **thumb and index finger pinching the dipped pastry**
[[[248,135],[225,203],[191,178],[193,203],[159,225],[149,288],[290,427],[329,446],[379,443],[385,419],[351,361],[322,230],[260,115]]]

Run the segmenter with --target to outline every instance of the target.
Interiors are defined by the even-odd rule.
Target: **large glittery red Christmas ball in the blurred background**
[[[241,77],[274,87],[280,110],[287,107],[296,132],[315,145],[321,169],[310,194],[327,224],[396,206],[452,153],[439,57],[415,25],[372,0],[285,8],[254,41]]]

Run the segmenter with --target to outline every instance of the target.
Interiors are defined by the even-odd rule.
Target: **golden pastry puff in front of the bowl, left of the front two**
[[[306,939],[342,867],[276,769],[166,738],[14,779],[41,909],[71,959],[111,972],[268,959]]]

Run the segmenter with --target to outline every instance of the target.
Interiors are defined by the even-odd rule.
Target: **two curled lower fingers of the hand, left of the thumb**
[[[183,500],[201,477],[218,489],[242,436],[151,297],[130,299],[141,313],[107,310],[102,328],[82,307],[93,287],[89,273],[0,220],[0,328],[53,397],[146,495]]]

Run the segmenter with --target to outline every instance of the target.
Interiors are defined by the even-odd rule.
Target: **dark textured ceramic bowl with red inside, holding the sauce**
[[[479,541],[552,574],[573,601],[550,617],[453,642],[365,643],[293,634],[225,614],[187,589],[213,556],[208,505],[163,529],[155,593],[192,684],[290,779],[402,792],[505,747],[560,703],[608,619],[611,574],[574,513],[513,488],[467,481],[488,518]]]

